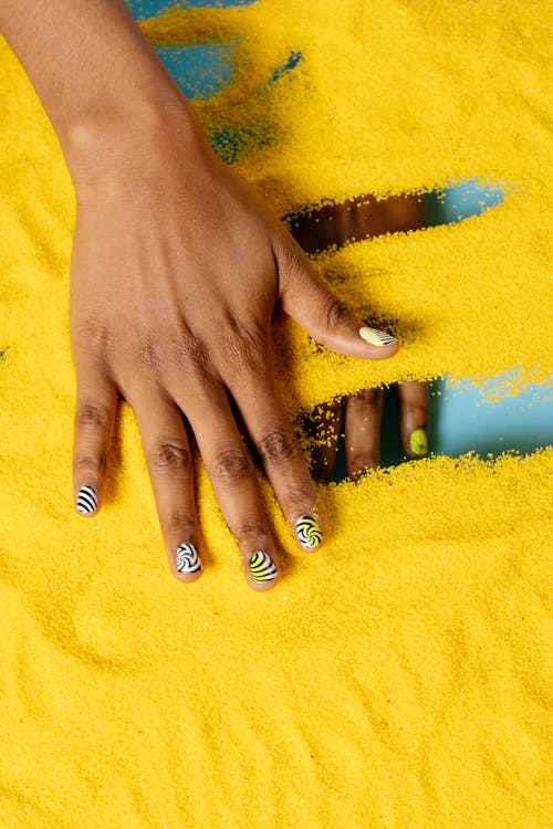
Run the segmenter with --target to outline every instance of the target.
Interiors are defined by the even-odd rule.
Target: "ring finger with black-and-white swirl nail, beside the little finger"
[[[202,573],[198,554],[194,463],[175,403],[158,388],[136,391],[135,410],[170,571],[180,581]]]

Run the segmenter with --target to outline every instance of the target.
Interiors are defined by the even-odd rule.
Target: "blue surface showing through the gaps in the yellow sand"
[[[126,0],[136,19],[143,20],[175,7],[249,6],[254,0]],[[198,46],[163,46],[157,53],[188,97],[206,98],[230,82],[232,46],[216,43]],[[301,62],[298,51],[274,67],[268,83],[275,83]],[[268,124],[253,132],[248,125],[237,133],[221,130],[211,141],[228,161],[272,139],[274,127]],[[470,179],[426,196],[427,223],[462,221],[503,200],[499,185]],[[424,232],[424,231],[420,231]],[[505,376],[504,379],[509,379]],[[501,378],[495,378],[499,382]],[[551,388],[531,387],[514,398],[491,403],[469,381],[447,388],[446,380],[429,387],[430,451],[453,457],[474,451],[498,455],[504,451],[531,452],[553,443],[553,393]],[[382,462],[390,465],[406,458],[398,434],[397,391],[386,393],[382,437]],[[343,457],[341,459],[343,466]]]

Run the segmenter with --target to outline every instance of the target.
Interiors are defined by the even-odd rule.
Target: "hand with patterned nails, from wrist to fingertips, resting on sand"
[[[314,486],[274,390],[275,303],[341,354],[379,359],[397,344],[359,336],[363,322],[321,284],[252,189],[205,141],[190,141],[175,108],[163,128],[129,141],[124,135],[107,154],[88,147],[72,170],[77,508],[102,505],[121,393],[137,417],[174,576],[191,581],[201,573],[188,424],[246,578],[265,590],[276,584],[278,558],[231,401],[299,545],[311,550],[322,538]]]

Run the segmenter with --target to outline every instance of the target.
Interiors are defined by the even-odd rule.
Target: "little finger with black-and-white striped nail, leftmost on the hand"
[[[77,367],[73,441],[76,511],[93,515],[102,506],[106,459],[113,437],[117,389],[96,364]]]

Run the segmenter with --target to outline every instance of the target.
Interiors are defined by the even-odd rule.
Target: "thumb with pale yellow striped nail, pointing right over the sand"
[[[283,311],[313,339],[337,354],[378,360],[393,357],[399,349],[395,337],[367,325],[344,305],[306,258],[286,258],[280,269],[280,301]]]

